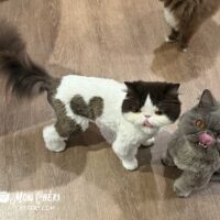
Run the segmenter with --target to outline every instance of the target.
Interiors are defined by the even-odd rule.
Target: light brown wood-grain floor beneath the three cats
[[[18,25],[32,57],[52,75],[79,73],[117,80],[180,81],[183,109],[205,88],[220,94],[220,12],[195,36],[187,54],[164,44],[168,28],[157,0],[8,0],[0,19]],[[154,147],[142,148],[136,172],[122,168],[91,128],[61,154],[48,152],[42,128],[53,119],[45,96],[31,102],[6,97],[0,82],[0,191],[14,198],[55,194],[56,201],[3,204],[2,220],[217,220],[220,184],[176,198],[178,172],[164,168],[166,128]],[[44,210],[43,207],[51,210]]]

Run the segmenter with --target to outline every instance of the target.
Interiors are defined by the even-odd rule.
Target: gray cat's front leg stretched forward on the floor
[[[174,191],[178,197],[188,197],[194,190],[204,188],[212,176],[211,172],[184,170],[182,176],[174,183]]]

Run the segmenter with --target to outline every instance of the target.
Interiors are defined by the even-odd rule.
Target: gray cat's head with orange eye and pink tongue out
[[[220,106],[209,90],[204,91],[195,108],[183,114],[178,128],[189,142],[201,147],[220,143]]]

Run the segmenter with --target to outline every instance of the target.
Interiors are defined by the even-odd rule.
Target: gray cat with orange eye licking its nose
[[[183,174],[174,183],[179,197],[188,197],[211,179],[220,180],[220,105],[209,90],[199,103],[185,112],[173,134],[162,163]],[[213,175],[215,174],[215,175]]]

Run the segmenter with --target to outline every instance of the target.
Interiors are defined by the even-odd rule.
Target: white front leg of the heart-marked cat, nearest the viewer
[[[129,145],[128,142],[119,138],[117,138],[112,145],[114,153],[121,160],[123,167],[128,170],[138,168],[138,160],[135,157],[138,147],[138,145]]]

